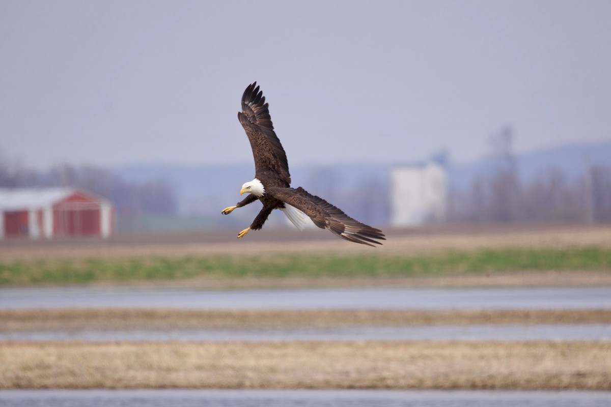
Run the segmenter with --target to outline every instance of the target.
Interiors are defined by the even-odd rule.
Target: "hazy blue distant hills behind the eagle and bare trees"
[[[523,182],[551,168],[557,168],[571,180],[582,176],[585,160],[592,165],[611,167],[611,141],[574,144],[541,149],[516,155],[516,165]],[[301,185],[320,195],[344,211],[366,223],[384,224],[389,217],[389,173],[399,164],[301,165],[291,167],[293,185]],[[484,157],[466,164],[447,166],[450,187],[463,190],[470,187],[477,175],[496,172],[499,159]],[[238,202],[241,185],[254,176],[254,165],[125,165],[112,168],[126,181],[148,181],[163,178],[171,182],[178,198],[180,215],[218,216],[224,207]],[[372,190],[373,193],[365,193]],[[258,212],[258,206],[243,208],[232,214],[232,220],[243,217],[247,222]]]

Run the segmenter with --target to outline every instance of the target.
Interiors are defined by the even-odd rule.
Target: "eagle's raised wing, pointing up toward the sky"
[[[271,123],[268,104],[260,92],[257,82],[249,85],[242,95],[242,111],[238,119],[251,142],[255,157],[255,171],[273,171],[287,185],[291,183],[287,154],[280,144],[274,125]]]

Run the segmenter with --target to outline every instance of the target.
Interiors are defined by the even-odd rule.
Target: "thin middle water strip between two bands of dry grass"
[[[0,340],[114,340],[195,342],[263,340],[611,340],[611,325],[442,325],[283,330],[29,331]]]

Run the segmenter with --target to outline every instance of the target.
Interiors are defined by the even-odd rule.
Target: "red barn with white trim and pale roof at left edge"
[[[0,189],[0,239],[101,236],[112,231],[109,201],[77,189]]]

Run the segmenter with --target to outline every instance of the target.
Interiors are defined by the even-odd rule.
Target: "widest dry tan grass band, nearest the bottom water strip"
[[[0,344],[0,388],[611,390],[611,342]]]

